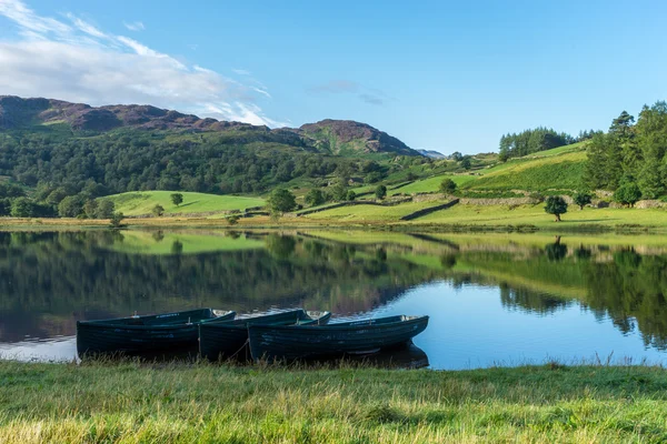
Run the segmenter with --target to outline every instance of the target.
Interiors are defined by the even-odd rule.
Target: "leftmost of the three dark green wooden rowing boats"
[[[77,322],[80,357],[99,354],[137,355],[159,351],[197,351],[199,324],[233,320],[235,312],[189,310],[148,316]]]

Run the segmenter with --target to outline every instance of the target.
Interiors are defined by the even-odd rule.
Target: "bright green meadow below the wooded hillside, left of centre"
[[[116,210],[126,215],[151,214],[152,209],[160,204],[166,214],[187,214],[209,211],[245,210],[252,206],[261,206],[266,201],[261,198],[249,198],[239,195],[218,195],[206,193],[180,192],[183,202],[175,205],[170,195],[173,191],[140,191],[122,194],[113,194],[109,199],[116,203]]]

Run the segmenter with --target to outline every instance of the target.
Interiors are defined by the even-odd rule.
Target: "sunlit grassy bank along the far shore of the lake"
[[[664,232],[667,231],[665,209],[591,209],[579,210],[570,205],[563,222],[554,222],[554,216],[545,213],[544,204],[537,205],[469,205],[458,204],[412,221],[400,221],[401,216],[434,206],[441,202],[407,202],[395,206],[356,205],[326,210],[303,216],[283,216],[278,221],[268,216],[241,218],[238,225],[230,226],[219,215],[172,215],[165,218],[126,219],[128,226],[153,228],[374,228],[412,231],[512,231],[517,228],[544,232]],[[91,219],[20,219],[0,218],[0,228],[43,229],[61,228],[107,228],[109,221]],[[526,230],[524,230],[526,231]]]

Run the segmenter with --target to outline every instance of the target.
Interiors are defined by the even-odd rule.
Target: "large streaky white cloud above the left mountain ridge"
[[[72,13],[41,17],[21,0],[0,0],[17,38],[0,41],[0,91],[93,105],[150,103],[223,120],[281,127],[259,100],[255,79],[240,82],[187,65],[126,36],[107,33]]]

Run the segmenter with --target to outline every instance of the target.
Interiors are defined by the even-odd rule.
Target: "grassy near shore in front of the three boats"
[[[657,367],[0,362],[0,442],[665,442]]]

